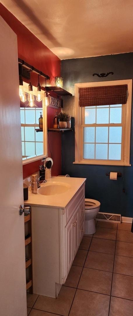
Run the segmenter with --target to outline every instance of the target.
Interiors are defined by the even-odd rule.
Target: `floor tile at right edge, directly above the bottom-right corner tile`
[[[133,276],[114,273],[111,295],[133,300]]]

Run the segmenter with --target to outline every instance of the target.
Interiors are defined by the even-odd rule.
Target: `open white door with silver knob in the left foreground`
[[[0,315],[26,316],[17,36],[0,16]]]

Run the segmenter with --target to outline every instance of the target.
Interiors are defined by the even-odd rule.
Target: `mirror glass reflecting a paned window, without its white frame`
[[[36,132],[36,129],[39,129],[40,112],[43,114],[43,104],[42,101],[38,102],[34,95],[34,106],[30,107],[27,99],[26,93],[26,102],[20,100],[23,161],[43,155],[43,133]]]

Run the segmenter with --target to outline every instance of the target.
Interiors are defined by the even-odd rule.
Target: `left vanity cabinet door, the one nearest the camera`
[[[73,217],[65,227],[66,239],[66,277],[73,261]]]

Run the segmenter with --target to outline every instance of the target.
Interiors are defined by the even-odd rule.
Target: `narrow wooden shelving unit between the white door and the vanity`
[[[28,247],[26,249],[26,257],[28,255],[28,260],[26,260],[26,290],[29,289],[29,293],[33,294],[32,288],[32,228],[31,228],[31,214],[24,216],[24,224],[25,224],[25,235],[29,235],[28,238],[25,239],[25,246]],[[27,270],[28,269],[28,270]],[[28,275],[28,277],[27,277]]]

